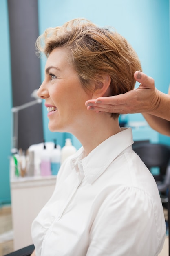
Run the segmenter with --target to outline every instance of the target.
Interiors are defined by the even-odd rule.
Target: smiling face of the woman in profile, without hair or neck
[[[56,48],[51,52],[38,96],[45,99],[49,130],[74,134],[86,115],[89,115],[85,102],[91,99],[92,93],[82,88],[77,72],[68,62],[69,54],[69,50],[64,48]]]

